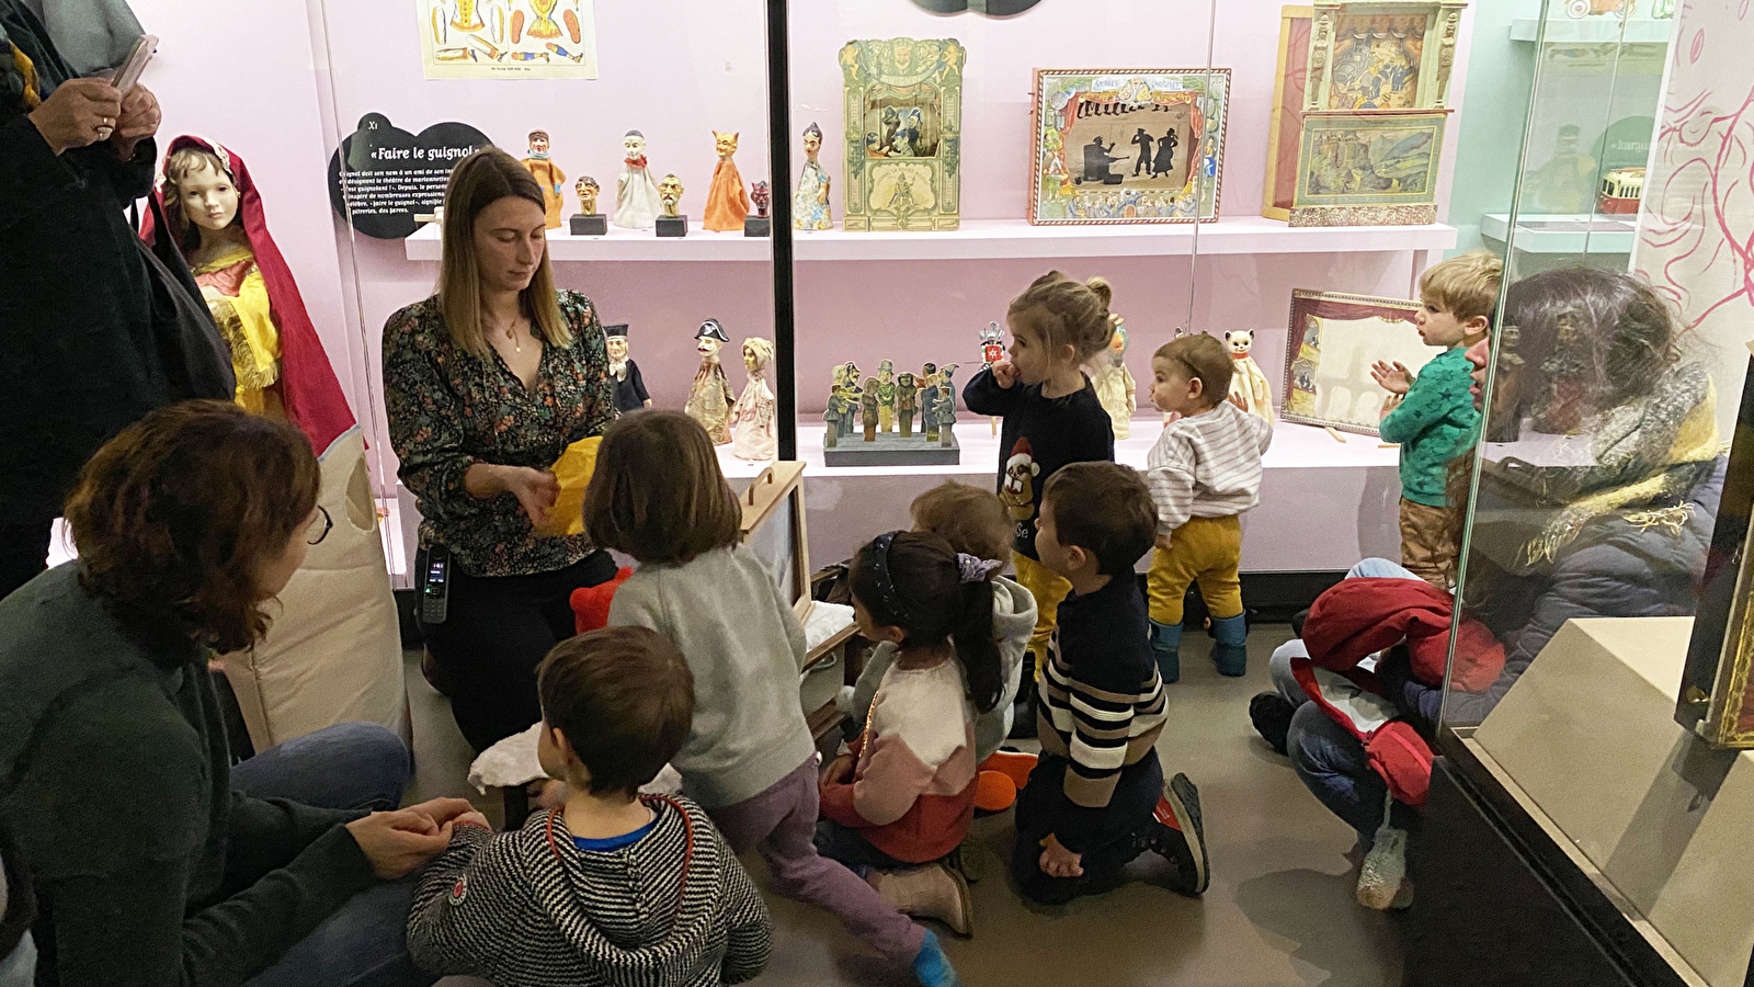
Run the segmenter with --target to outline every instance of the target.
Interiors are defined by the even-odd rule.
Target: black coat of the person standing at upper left
[[[0,523],[60,513],[91,453],[170,400],[151,283],[125,209],[153,184],[153,140],[54,155],[23,104],[11,47],[44,98],[72,76],[18,0],[0,0]]]

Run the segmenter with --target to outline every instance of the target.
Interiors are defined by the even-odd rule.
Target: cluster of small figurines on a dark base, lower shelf
[[[865,441],[875,443],[879,434],[914,437],[914,414],[919,414],[921,437],[926,444],[951,448],[956,427],[956,388],[951,376],[956,364],[926,364],[919,374],[895,372],[895,364],[884,360],[877,376],[859,378],[859,365],[847,362],[835,367],[823,421],[824,448],[837,448],[852,434],[854,421],[863,427]],[[900,425],[900,432],[896,427]]]

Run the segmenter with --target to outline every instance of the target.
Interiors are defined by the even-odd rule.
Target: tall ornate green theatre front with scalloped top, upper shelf
[[[963,61],[956,39],[849,40],[847,230],[954,230],[961,223]]]

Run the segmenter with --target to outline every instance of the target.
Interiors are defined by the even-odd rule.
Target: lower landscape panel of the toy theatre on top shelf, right
[[[1437,221],[1442,109],[1303,114],[1293,227]]]

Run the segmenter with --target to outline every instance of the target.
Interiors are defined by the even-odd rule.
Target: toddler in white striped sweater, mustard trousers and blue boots
[[[1273,425],[1231,397],[1233,360],[1212,335],[1182,335],[1151,358],[1151,400],[1179,418],[1163,427],[1145,458],[1158,504],[1158,550],[1145,588],[1151,650],[1163,681],[1182,674],[1182,597],[1200,583],[1212,615],[1219,674],[1247,671],[1249,623],[1242,615],[1242,513],[1261,499],[1261,455]]]

